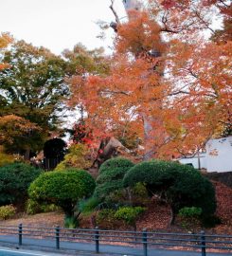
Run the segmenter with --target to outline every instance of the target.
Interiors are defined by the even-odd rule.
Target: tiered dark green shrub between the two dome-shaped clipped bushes
[[[132,161],[121,157],[105,161],[99,168],[94,196],[102,201],[110,193],[123,189],[123,177],[133,166]]]

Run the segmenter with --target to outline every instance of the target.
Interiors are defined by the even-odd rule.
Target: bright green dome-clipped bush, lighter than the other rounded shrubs
[[[95,180],[87,172],[57,171],[41,174],[31,183],[28,193],[32,200],[60,206],[66,216],[74,214],[80,199],[95,190]]]

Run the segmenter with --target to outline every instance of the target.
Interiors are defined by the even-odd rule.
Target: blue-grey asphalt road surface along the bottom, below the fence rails
[[[92,243],[61,242],[61,249],[55,248],[55,241],[48,239],[23,238],[23,246],[18,247],[18,238],[15,236],[0,235],[0,256],[59,256],[59,255],[99,255],[95,253]],[[5,249],[4,247],[9,247]],[[14,249],[13,249],[14,248]],[[18,248],[18,249],[15,249]],[[23,251],[22,249],[27,249]],[[37,250],[37,252],[35,251]],[[102,256],[143,256],[142,247],[99,246]],[[60,254],[60,253],[62,254]],[[232,253],[207,253],[207,256],[232,256]],[[200,252],[165,250],[149,248],[148,256],[201,256]]]

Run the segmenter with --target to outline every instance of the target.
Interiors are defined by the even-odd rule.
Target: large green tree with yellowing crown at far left
[[[24,41],[10,46],[0,57],[9,67],[0,73],[0,117],[15,115],[36,124],[29,131],[6,144],[10,152],[24,153],[42,149],[48,132],[53,130],[62,111],[62,100],[68,94],[64,82],[66,63],[44,47]]]

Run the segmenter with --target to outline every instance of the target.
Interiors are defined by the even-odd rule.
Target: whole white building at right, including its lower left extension
[[[209,139],[205,149],[206,153],[178,160],[183,164],[192,164],[196,169],[205,168],[208,173],[232,172],[232,136]]]

